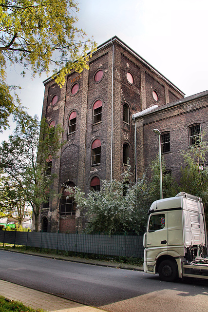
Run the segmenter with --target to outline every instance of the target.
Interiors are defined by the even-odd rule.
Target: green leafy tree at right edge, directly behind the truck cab
[[[208,223],[208,142],[200,137],[195,145],[182,151],[184,166],[181,168],[181,191],[202,198]]]

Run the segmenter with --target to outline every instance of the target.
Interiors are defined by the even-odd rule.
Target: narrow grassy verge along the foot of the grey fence
[[[14,248],[14,245],[11,244],[3,244],[0,243],[0,248],[3,248],[5,250]],[[55,250],[55,249],[46,249],[42,248],[36,248],[36,247],[28,247],[26,250],[25,246],[16,245],[16,250],[22,251],[22,252],[34,252],[38,254],[54,254],[64,257],[78,257],[81,259],[93,259],[97,261],[110,261],[115,263],[124,263],[129,265],[135,265],[135,266],[143,266],[143,258],[137,258],[137,257],[125,257],[125,256],[112,256],[112,255],[103,255],[103,254],[86,254],[86,253],[75,253],[75,252],[69,252],[69,251],[61,251],[61,250]]]

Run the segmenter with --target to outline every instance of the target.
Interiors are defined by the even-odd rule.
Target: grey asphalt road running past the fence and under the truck
[[[110,312],[208,312],[208,280],[157,275],[0,251],[0,279]]]

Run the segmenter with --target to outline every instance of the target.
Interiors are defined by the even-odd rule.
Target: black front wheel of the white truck
[[[160,278],[166,282],[172,282],[178,276],[177,264],[173,260],[163,260],[158,267]]]

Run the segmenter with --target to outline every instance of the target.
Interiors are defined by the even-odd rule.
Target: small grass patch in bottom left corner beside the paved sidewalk
[[[44,312],[42,309],[34,310],[24,306],[21,302],[9,301],[0,296],[0,312]]]

